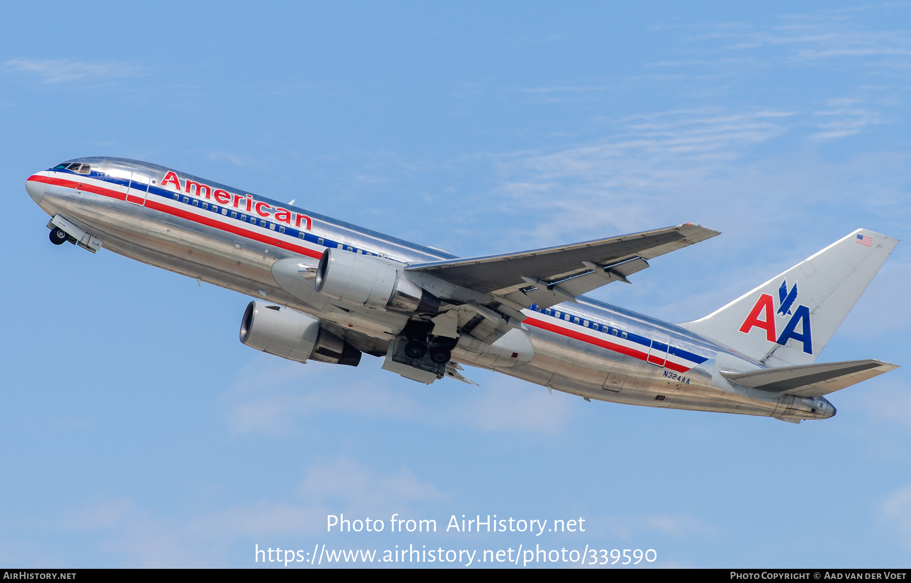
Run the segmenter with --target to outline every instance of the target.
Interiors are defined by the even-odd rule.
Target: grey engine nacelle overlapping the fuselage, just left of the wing
[[[313,286],[355,306],[433,315],[440,309],[439,298],[400,276],[388,259],[341,249],[322,252]]]

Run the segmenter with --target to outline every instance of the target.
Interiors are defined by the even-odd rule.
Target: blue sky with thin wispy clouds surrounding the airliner
[[[425,387],[243,347],[248,298],[47,241],[30,173],[125,156],[460,256],[723,232],[594,297],[701,317],[857,227],[907,241],[911,5],[5,6],[0,565],[251,567],[311,549],[654,548],[657,566],[911,559],[906,369],[769,418]],[[896,248],[823,360],[906,365]],[[327,514],[587,520],[325,533]],[[282,567],[284,568],[284,567]],[[288,568],[291,568],[290,566]]]

